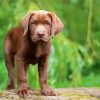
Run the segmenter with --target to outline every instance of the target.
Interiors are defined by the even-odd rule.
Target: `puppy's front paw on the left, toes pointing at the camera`
[[[26,87],[25,83],[22,83],[22,84],[19,85],[19,87],[18,87],[18,95],[21,98],[25,98],[25,97],[28,96],[27,87]]]

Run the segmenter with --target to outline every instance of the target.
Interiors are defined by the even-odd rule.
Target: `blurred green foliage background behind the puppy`
[[[100,87],[100,0],[0,0],[0,89],[8,83],[4,37],[29,10],[39,9],[56,13],[65,26],[52,39],[49,86]],[[27,84],[35,89],[37,72],[37,65],[30,65]]]

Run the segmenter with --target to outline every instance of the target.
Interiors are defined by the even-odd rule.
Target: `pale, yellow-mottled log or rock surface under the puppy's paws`
[[[57,96],[42,96],[39,90],[28,90],[28,97],[20,98],[15,90],[0,91],[0,100],[100,100],[97,88],[54,89]]]

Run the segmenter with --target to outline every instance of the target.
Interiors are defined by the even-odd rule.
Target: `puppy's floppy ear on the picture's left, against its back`
[[[22,31],[23,31],[23,36],[26,35],[27,31],[28,31],[28,23],[29,23],[29,19],[31,17],[31,15],[33,14],[33,12],[28,12],[21,20],[19,23],[19,26],[21,27]]]

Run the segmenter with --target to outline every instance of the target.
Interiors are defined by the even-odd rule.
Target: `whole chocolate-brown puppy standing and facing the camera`
[[[26,72],[29,64],[38,64],[39,82],[43,95],[55,95],[47,85],[47,64],[50,38],[63,28],[59,18],[47,11],[38,10],[24,16],[18,27],[10,30],[5,38],[5,63],[8,70],[7,89],[14,88],[13,66],[16,64],[18,94],[27,94]]]

